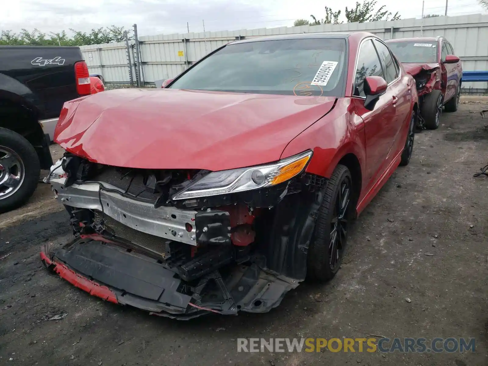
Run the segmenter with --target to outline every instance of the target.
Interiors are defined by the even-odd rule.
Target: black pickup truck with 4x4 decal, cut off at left
[[[34,193],[63,103],[88,94],[79,47],[0,46],[0,213]]]

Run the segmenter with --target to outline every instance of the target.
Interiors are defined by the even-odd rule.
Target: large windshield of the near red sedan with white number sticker
[[[170,88],[341,97],[345,65],[345,39],[235,43],[200,61]]]

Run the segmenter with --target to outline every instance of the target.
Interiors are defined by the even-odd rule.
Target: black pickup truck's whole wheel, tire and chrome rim
[[[18,133],[0,128],[0,213],[27,201],[40,175],[34,146]]]

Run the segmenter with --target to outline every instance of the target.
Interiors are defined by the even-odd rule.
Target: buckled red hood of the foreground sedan
[[[334,102],[176,89],[104,91],[66,102],[54,141],[107,165],[224,170],[279,160],[288,142]]]

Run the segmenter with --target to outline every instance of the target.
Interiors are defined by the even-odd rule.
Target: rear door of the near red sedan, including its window
[[[373,43],[383,64],[385,80],[393,94],[393,106],[395,107],[395,118],[388,121],[385,125],[385,128],[390,129],[392,135],[386,157],[386,161],[390,163],[398,152],[403,150],[405,145],[404,127],[410,122],[412,84],[408,85],[405,75],[401,74],[398,61],[386,44],[377,39]]]

